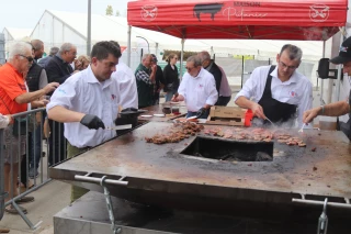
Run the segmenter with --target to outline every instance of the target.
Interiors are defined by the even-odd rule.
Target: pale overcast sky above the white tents
[[[105,14],[110,4],[113,12],[124,15],[128,0],[91,0],[91,12]],[[3,27],[34,29],[44,11],[87,12],[88,0],[0,0],[0,32]]]

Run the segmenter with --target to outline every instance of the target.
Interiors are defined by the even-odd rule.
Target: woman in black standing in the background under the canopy
[[[166,62],[168,62],[168,65],[163,68],[163,78],[166,81],[163,91],[167,92],[166,101],[170,101],[173,94],[177,93],[179,87],[179,74],[176,66],[178,56],[176,54],[170,54]]]

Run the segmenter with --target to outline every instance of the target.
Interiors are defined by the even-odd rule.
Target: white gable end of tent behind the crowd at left
[[[78,55],[84,55],[87,52],[86,38],[48,12],[43,14],[31,37],[42,40],[47,54],[50,47],[60,47],[64,43],[73,43]]]

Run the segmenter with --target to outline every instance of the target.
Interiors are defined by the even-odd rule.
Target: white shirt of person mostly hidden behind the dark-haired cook
[[[116,71],[111,75],[117,82],[117,93],[120,94],[120,105],[122,109],[138,108],[138,91],[136,88],[135,75],[133,70],[123,62],[116,65]]]

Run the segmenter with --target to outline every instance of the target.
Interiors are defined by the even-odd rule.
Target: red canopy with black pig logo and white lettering
[[[128,24],[180,38],[326,41],[344,26],[347,0],[143,0]]]

